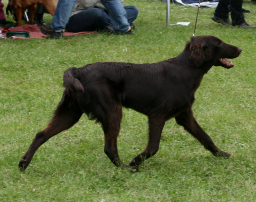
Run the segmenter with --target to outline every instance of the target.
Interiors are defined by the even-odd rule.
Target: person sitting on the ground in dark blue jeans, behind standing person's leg
[[[138,9],[135,6],[124,6],[124,9],[130,26],[134,28],[133,21],[138,16]],[[106,30],[115,33],[109,13],[100,0],[77,0],[66,30],[69,32]]]

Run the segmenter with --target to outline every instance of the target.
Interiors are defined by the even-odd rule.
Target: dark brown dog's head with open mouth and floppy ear
[[[227,44],[214,36],[197,36],[192,37],[187,43],[189,46],[189,59],[197,66],[222,66],[227,69],[233,67],[231,61],[226,60],[237,58],[242,49],[230,44]]]

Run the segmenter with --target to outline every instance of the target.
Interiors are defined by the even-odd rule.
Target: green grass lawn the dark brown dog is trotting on
[[[6,6],[7,0],[3,2]],[[125,4],[139,9],[132,36],[0,39],[0,200],[256,201],[256,30],[217,24],[211,20],[214,9],[200,9],[196,35],[214,35],[243,52],[229,70],[212,67],[193,109],[202,128],[231,158],[213,157],[170,120],[159,152],[140,172],[130,173],[110,162],[100,126],[82,116],[73,128],[42,145],[25,172],[18,170],[20,158],[61,98],[67,68],[97,61],[165,60],[177,56],[193,35],[197,8],[171,5],[170,23],[191,23],[166,28],[163,2]],[[243,7],[251,11],[246,21],[256,25],[256,7],[249,0]],[[121,127],[119,155],[129,163],[146,145],[147,118],[124,109]]]

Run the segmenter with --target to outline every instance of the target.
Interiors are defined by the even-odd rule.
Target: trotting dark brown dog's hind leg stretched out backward
[[[28,167],[36,150],[54,135],[71,128],[80,119],[82,113],[77,104],[69,105],[67,102],[59,104],[54,117],[48,123],[47,127],[36,134],[27,153],[19,162],[19,169],[24,171]]]

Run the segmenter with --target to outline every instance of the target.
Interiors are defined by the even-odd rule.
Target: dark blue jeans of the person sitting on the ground
[[[137,18],[139,11],[135,6],[124,6],[124,9],[130,25]],[[106,26],[112,26],[108,12],[100,8],[92,8],[71,16],[66,29],[69,32],[86,32],[103,30]]]

